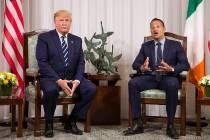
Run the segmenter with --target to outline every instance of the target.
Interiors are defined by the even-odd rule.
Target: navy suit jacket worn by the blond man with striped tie
[[[41,78],[79,80],[84,74],[82,39],[68,33],[68,66],[65,67],[61,42],[56,30],[42,33],[38,37],[36,58]]]

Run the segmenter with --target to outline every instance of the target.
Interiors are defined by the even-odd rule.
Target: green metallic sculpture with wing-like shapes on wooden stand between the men
[[[117,66],[114,62],[122,57],[122,54],[113,56],[113,52],[106,50],[107,38],[114,32],[104,32],[101,22],[101,34],[94,33],[91,39],[84,38],[87,50],[84,51],[85,59],[95,66],[98,73],[116,73]],[[113,46],[112,46],[113,48]]]

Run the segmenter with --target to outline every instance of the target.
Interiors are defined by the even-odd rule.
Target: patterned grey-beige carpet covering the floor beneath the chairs
[[[78,123],[78,127],[83,129],[83,124]],[[161,123],[148,123],[144,126],[145,132],[133,136],[123,136],[123,130],[127,129],[127,122],[122,121],[121,125],[100,125],[91,126],[91,133],[84,133],[82,136],[67,134],[61,124],[56,124],[51,140],[170,140],[166,136],[166,125]],[[179,131],[179,126],[176,126]],[[186,136],[180,136],[181,140],[209,140],[210,126],[203,127],[202,136],[196,136],[195,127],[187,126]],[[31,127],[24,130],[24,136],[17,138],[15,132],[10,132],[9,127],[0,127],[0,140],[47,140],[50,138],[34,137]]]

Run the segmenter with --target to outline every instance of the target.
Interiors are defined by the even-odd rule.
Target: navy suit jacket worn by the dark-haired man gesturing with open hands
[[[151,40],[142,44],[140,52],[133,62],[133,69],[141,73],[140,67],[143,65],[145,59],[149,57],[149,67],[152,71],[155,70],[155,41]],[[189,62],[186,57],[181,43],[174,40],[165,40],[163,50],[163,60],[174,68],[173,73],[168,73],[172,76],[177,76],[180,72],[190,68]],[[147,72],[146,74],[150,74]]]

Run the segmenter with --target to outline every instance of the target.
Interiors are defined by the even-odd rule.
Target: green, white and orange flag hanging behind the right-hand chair
[[[199,91],[199,97],[202,97],[204,92],[198,86],[198,81],[204,76],[205,70],[204,0],[189,0],[185,35],[187,36],[187,57],[191,66],[189,80],[196,85]]]

